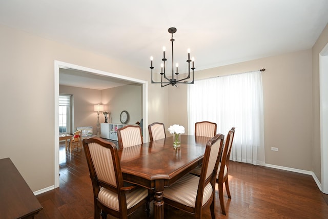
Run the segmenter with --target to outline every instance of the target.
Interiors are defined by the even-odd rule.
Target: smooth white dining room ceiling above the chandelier
[[[73,47],[121,59],[150,74],[162,46],[187,70],[310,49],[328,23],[327,0],[0,0],[0,23]],[[186,67],[182,67],[185,65]],[[89,82],[90,83],[90,82]]]

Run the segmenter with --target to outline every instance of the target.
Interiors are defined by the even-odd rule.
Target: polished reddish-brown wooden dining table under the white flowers
[[[209,140],[210,137],[181,135],[181,146],[175,148],[170,136],[118,151],[124,180],[155,190],[155,218],[164,218],[165,187],[202,162]]]

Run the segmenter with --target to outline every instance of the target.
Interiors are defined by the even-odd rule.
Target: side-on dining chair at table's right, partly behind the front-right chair
[[[219,164],[218,173],[216,182],[218,183],[218,190],[219,190],[219,200],[221,205],[222,214],[226,215],[226,209],[224,208],[223,203],[223,184],[226,186],[226,191],[228,194],[228,198],[231,198],[230,189],[229,189],[229,161],[230,161],[230,152],[231,146],[235,136],[235,127],[232,127],[231,130],[228,132],[226,142],[224,143],[221,162]]]

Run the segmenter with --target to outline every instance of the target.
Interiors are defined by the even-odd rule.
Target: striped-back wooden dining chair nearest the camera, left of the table
[[[94,218],[118,218],[146,204],[149,216],[148,189],[123,181],[117,148],[99,137],[83,140],[94,196]]]

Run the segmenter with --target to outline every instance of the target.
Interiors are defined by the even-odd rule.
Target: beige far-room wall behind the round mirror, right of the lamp
[[[131,84],[102,90],[101,99],[105,110],[111,112],[108,123],[120,124],[119,116],[123,110],[129,113],[130,118],[127,124],[136,125],[136,122],[140,122],[142,118],[141,85]],[[102,121],[104,122],[104,120]]]

